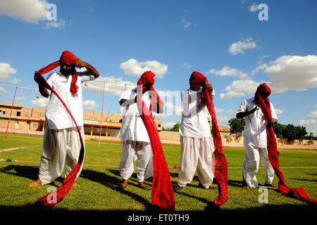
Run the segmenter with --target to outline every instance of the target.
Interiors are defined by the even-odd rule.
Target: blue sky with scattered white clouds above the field
[[[55,4],[56,20],[47,18],[48,4]],[[268,20],[259,20],[259,4],[268,6]],[[316,8],[313,0],[1,0],[0,84],[36,89],[35,70],[68,50],[101,74],[84,87],[85,110],[101,113],[105,82],[104,112],[119,113],[124,84],[130,89],[152,70],[168,127],[180,121],[178,94],[196,70],[216,91],[219,124],[228,126],[240,103],[267,82],[279,122],[317,135]],[[13,92],[0,86],[1,102],[11,103]],[[16,101],[44,107],[37,94],[18,89]]]

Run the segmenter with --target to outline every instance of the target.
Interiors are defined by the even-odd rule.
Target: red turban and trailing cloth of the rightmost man
[[[267,122],[272,120],[271,104],[270,100],[268,99],[268,96],[270,96],[270,94],[270,87],[266,85],[266,83],[263,83],[258,86],[258,88],[256,89],[256,94],[254,96],[254,99],[261,108],[264,119]],[[262,96],[264,97],[264,99]],[[275,174],[278,176],[278,179],[280,179],[280,181],[278,182],[278,190],[285,195],[291,195],[292,193],[294,193],[299,200],[309,203],[316,203],[317,200],[315,198],[309,198],[309,196],[304,191],[304,188],[289,188],[286,185],[284,174],[280,171],[280,166],[278,163],[278,147],[276,145],[275,134],[271,123],[268,124],[268,126],[266,127],[266,139],[268,148],[268,159],[271,162]]]

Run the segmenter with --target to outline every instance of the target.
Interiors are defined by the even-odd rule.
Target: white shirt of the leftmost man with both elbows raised
[[[77,76],[77,96],[73,96],[70,92],[72,75],[66,79],[61,72],[53,72],[47,77],[46,82],[49,83],[58,96],[61,97],[68,110],[70,110],[70,113],[73,115],[77,126],[80,127],[83,126],[82,82],[93,80],[95,78],[93,75],[89,74],[88,70],[77,71]],[[49,129],[76,127],[64,105],[59,101],[55,94],[51,93],[51,91],[49,91],[49,103],[46,105],[45,117]]]

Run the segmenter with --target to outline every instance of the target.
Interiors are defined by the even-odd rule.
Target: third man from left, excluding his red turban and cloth
[[[212,89],[209,84],[209,90]],[[213,141],[209,127],[209,111],[201,101],[201,89],[191,86],[190,89],[182,91],[181,99],[183,105],[182,120],[180,122],[180,169],[178,172],[178,186],[175,191],[180,191],[194,178],[197,169],[199,186],[213,189],[212,155]],[[215,96],[215,91],[212,90]]]

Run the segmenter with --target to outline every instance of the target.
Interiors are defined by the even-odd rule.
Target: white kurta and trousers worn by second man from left
[[[137,96],[137,89],[124,91],[119,98],[132,100]],[[151,101],[149,91],[146,91],[142,100],[147,108]],[[153,176],[152,150],[149,140],[149,134],[144,126],[137,103],[131,103],[124,106],[124,116],[119,131],[119,139],[123,141],[123,149],[120,158],[120,176],[128,180],[134,172],[134,161],[137,160],[137,180],[144,181]]]

